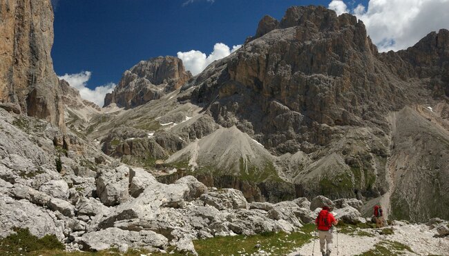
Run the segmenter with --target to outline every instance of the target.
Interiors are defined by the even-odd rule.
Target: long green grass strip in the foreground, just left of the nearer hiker
[[[250,255],[258,250],[265,250],[271,255],[286,255],[309,242],[314,228],[314,224],[306,224],[300,232],[292,234],[269,232],[251,236],[213,237],[193,241],[193,244],[199,255]],[[260,244],[260,248],[256,248],[256,244]]]

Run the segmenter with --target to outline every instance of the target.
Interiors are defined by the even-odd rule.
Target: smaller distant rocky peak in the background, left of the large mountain
[[[165,92],[171,92],[191,78],[177,57],[156,57],[140,61],[126,70],[122,80],[112,93],[106,95],[104,106],[112,103],[124,108],[133,108],[160,99]]]

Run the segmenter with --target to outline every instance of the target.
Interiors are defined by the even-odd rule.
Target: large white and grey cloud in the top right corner
[[[338,13],[343,5],[333,0],[329,8]],[[365,23],[379,50],[388,51],[408,48],[429,32],[449,28],[448,10],[449,0],[370,0],[367,7],[359,4],[350,12]]]

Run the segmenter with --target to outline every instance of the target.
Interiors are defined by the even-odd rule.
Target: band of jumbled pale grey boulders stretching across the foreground
[[[48,181],[39,190],[3,180],[1,187],[8,188],[0,196],[2,226],[21,226],[19,221],[32,220],[41,235],[55,233],[68,250],[164,252],[174,247],[196,255],[194,239],[298,231],[314,220],[323,204],[333,206],[345,224],[370,221],[361,217],[363,203],[358,199],[331,201],[318,196],[312,201],[302,197],[278,204],[248,203],[239,190],[207,188],[192,176],[161,184],[146,170],[128,166],[99,175],[98,198],[68,199],[70,191],[63,180]],[[449,234],[446,221],[432,219],[428,225],[434,235]],[[261,250],[260,255],[271,253]]]

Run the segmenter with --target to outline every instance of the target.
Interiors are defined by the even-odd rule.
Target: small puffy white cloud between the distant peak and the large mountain
[[[232,46],[231,50],[225,43],[216,43],[213,46],[213,52],[209,56],[199,50],[191,50],[189,52],[178,52],[178,58],[182,59],[186,70],[189,70],[193,75],[198,75],[210,63],[227,57],[232,52],[240,49],[240,47],[242,46]]]

